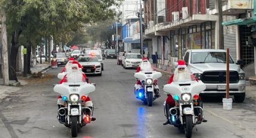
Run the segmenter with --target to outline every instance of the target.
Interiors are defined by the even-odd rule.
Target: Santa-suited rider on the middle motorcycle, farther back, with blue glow
[[[152,67],[151,63],[148,61],[148,58],[142,58],[142,63],[137,67],[136,73],[139,73],[140,71],[153,71],[154,67]],[[139,79],[137,79],[136,83],[136,91],[138,89],[142,88],[142,82],[140,82]],[[154,80],[154,92],[155,97],[159,97],[159,87],[157,85],[157,80]]]

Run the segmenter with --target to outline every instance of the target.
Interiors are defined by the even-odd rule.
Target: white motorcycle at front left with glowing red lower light
[[[59,98],[60,101],[58,100],[57,119],[61,124],[71,128],[72,137],[76,137],[78,129],[93,121],[93,106],[87,105],[85,100],[91,92],[95,91],[95,84],[64,82],[54,85],[54,91],[62,97],[62,100],[61,98]]]

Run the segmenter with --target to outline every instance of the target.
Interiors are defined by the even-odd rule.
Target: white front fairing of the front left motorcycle
[[[95,86],[86,82],[80,82],[80,83],[64,82],[60,85],[54,86],[54,91],[63,96],[67,96],[68,98],[70,94],[78,94],[80,95],[80,98],[81,98],[82,95],[87,96],[91,92],[95,91]]]

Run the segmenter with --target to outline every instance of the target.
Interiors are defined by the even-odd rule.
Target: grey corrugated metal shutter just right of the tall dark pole
[[[223,16],[223,22],[227,20],[234,20],[236,16]],[[224,49],[229,49],[229,53],[237,61],[236,55],[236,25],[223,26],[223,35],[224,35]]]

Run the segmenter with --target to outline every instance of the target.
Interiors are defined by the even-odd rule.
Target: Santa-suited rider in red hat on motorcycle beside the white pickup
[[[189,69],[186,66],[186,62],[184,60],[178,60],[178,66],[176,67],[174,73],[172,74],[172,76],[170,76],[169,81],[167,82],[167,84],[170,84],[172,82],[178,82],[178,81],[191,81],[191,80],[195,80],[198,82],[198,79],[196,79],[196,77],[189,71]],[[201,97],[199,97],[198,99],[198,105],[202,107],[202,100]],[[167,94],[167,98],[166,101],[164,102],[164,107],[165,107],[165,111],[166,111],[166,117],[167,117],[167,121],[164,122],[163,125],[167,125],[170,124],[169,121],[169,109],[175,106],[175,101],[172,97],[172,95]],[[205,120],[201,115],[198,115],[199,120]],[[206,121],[206,120],[205,120]]]

